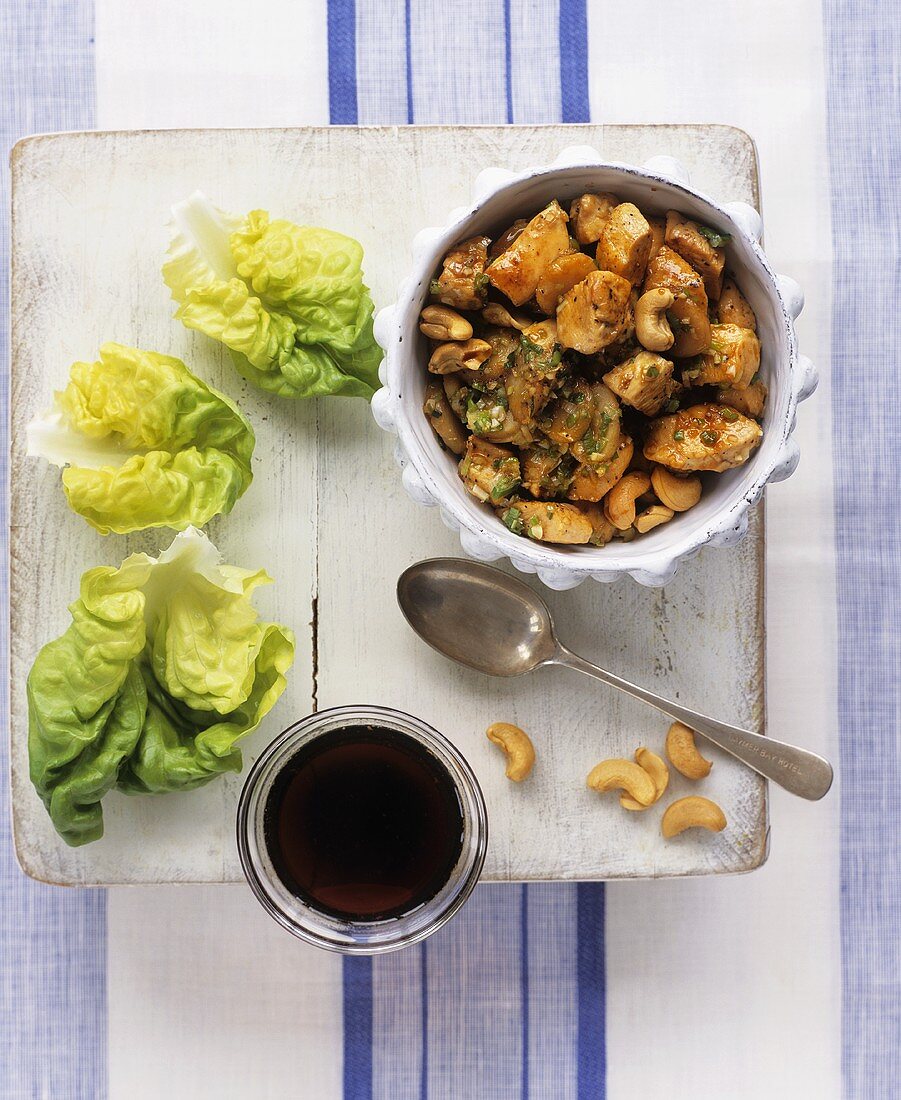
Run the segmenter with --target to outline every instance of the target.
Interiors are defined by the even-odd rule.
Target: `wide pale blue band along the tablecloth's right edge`
[[[901,425],[897,404],[878,396],[898,385],[901,343],[901,24],[893,4],[826,0],[823,11],[832,408],[843,440],[835,463],[843,1074],[847,1097],[882,1100],[901,1088],[901,514],[884,507],[895,492],[891,441]],[[849,437],[842,429],[850,407]]]

